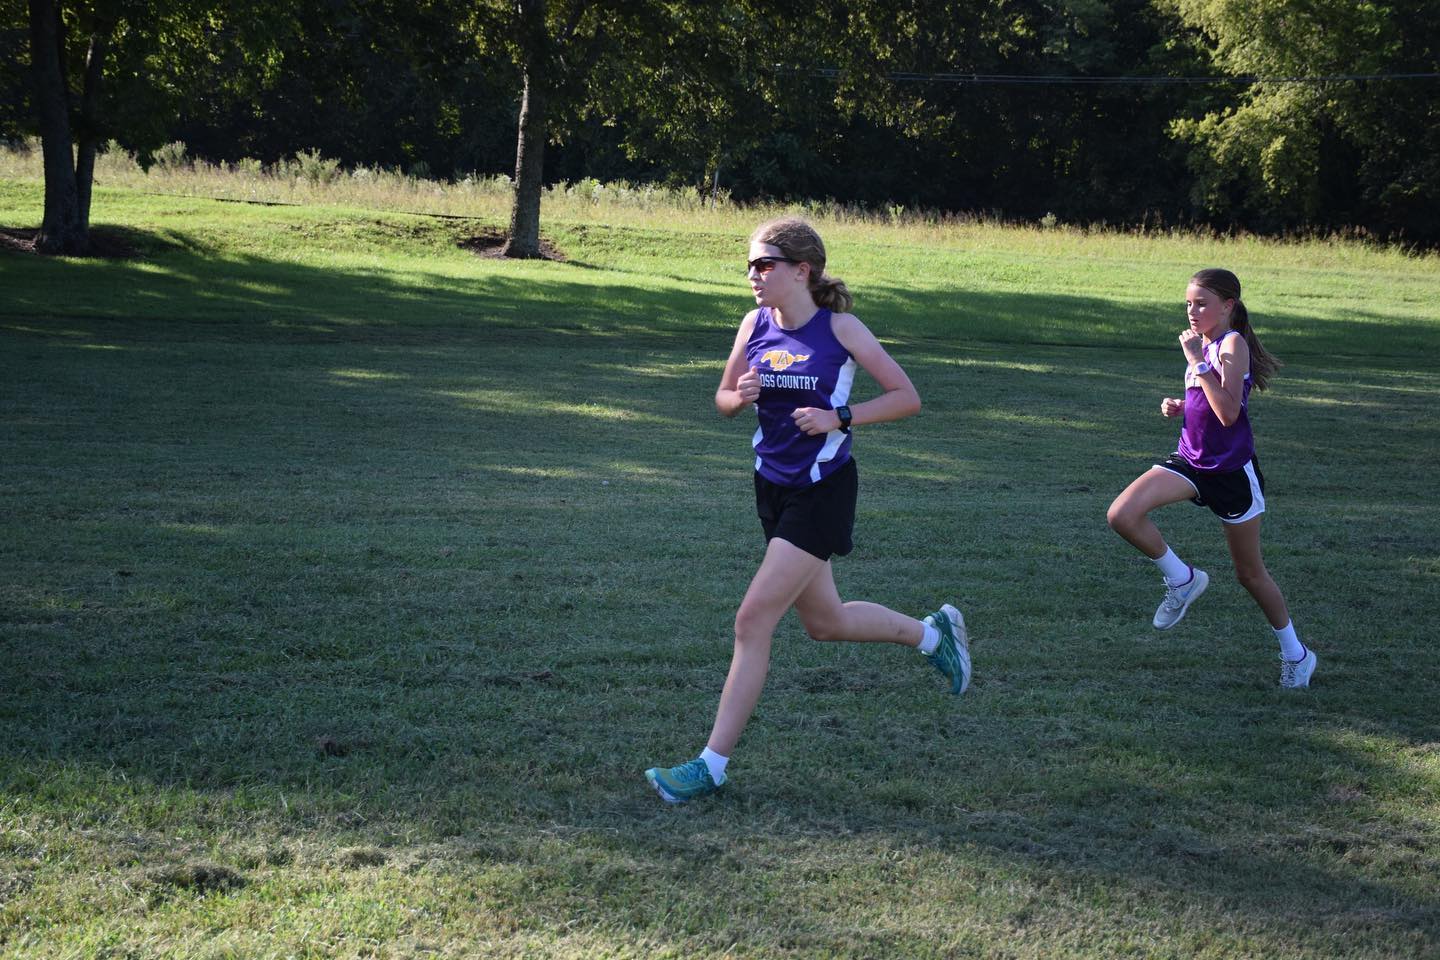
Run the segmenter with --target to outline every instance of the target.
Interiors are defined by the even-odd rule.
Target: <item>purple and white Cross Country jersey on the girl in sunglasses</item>
[[[834,410],[850,402],[855,358],[831,330],[831,312],[821,308],[798,330],[783,330],[769,307],[755,317],[744,356],[760,371],[755,412],[755,469],[780,486],[809,486],[850,459],[850,435],[831,430],[806,436],[791,415],[798,407]]]

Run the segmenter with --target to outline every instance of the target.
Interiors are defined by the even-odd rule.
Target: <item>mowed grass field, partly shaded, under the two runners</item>
[[[0,226],[39,220],[0,183]],[[762,551],[711,394],[744,227],[99,190],[127,261],[0,252],[0,956],[1440,956],[1440,263],[1345,245],[832,225],[924,399],[863,429],[845,596],[703,746]],[[824,226],[824,225],[822,225]],[[1286,361],[1251,416],[1276,645],[1218,524],[1169,633],[1104,525],[1172,449],[1187,278]],[[873,384],[864,383],[861,396]]]

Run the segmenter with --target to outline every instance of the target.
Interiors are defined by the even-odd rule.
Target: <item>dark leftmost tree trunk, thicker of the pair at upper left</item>
[[[30,0],[30,62],[35,107],[45,157],[45,220],[35,237],[40,253],[85,253],[88,217],[81,216],[71,141],[69,88],[65,82],[63,27],[56,0]]]

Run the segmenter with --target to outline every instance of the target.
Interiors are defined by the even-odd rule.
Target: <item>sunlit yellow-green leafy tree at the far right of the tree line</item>
[[[1440,0],[1165,3],[1220,72],[1276,78],[1172,125],[1200,209],[1440,239]],[[1398,73],[1431,76],[1323,79]]]

